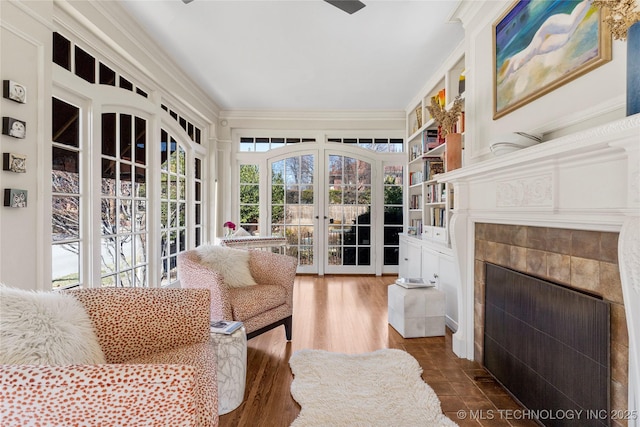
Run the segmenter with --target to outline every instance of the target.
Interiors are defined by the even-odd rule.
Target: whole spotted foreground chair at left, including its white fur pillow
[[[218,425],[208,290],[0,293],[3,426]]]

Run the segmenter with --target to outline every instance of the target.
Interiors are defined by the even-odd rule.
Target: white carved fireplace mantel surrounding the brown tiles
[[[470,143],[467,141],[467,144]],[[629,410],[640,410],[640,114],[442,175],[453,184],[460,273],[453,350],[473,360],[475,223],[619,232],[629,331]],[[638,426],[630,420],[629,426]]]

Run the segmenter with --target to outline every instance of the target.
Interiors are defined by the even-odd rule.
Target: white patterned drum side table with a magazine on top
[[[244,400],[247,379],[247,333],[245,327],[231,334],[211,333],[216,346],[218,414],[227,414]]]

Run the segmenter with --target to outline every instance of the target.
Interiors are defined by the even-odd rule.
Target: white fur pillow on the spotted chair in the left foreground
[[[0,285],[0,364],[106,363],[93,323],[72,295]]]

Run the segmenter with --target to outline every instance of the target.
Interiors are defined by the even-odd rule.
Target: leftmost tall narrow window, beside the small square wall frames
[[[60,289],[81,283],[83,210],[78,107],[53,98],[51,139],[51,285]]]

